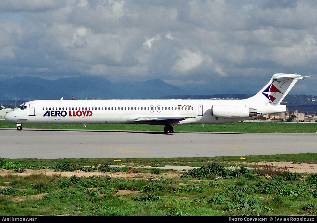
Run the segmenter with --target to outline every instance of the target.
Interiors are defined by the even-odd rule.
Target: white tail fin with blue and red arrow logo
[[[299,74],[274,74],[271,80],[256,95],[248,98],[248,100],[279,105],[294,84],[298,80],[305,79],[306,77],[310,76],[302,76]]]

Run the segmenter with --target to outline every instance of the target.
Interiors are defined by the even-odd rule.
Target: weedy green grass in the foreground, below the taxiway
[[[316,163],[317,154],[170,159],[0,159],[0,215],[76,216],[289,216],[317,215],[317,174],[250,166],[245,161]],[[201,166],[191,171],[146,169],[144,165]],[[98,165],[99,164],[99,165]],[[110,167],[119,164],[125,167]],[[239,166],[229,170],[225,166]],[[24,168],[94,172],[17,175]],[[78,171],[77,171],[78,172]],[[108,176],[98,176],[106,172]],[[128,177],[116,177],[120,173]],[[4,172],[2,172],[4,173]],[[74,172],[75,174],[75,172]]]

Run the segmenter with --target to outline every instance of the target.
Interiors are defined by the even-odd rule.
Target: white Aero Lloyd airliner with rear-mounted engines
[[[4,119],[22,124],[215,124],[243,121],[286,111],[281,101],[297,80],[309,76],[274,74],[253,97],[244,100],[36,100],[23,103]]]

